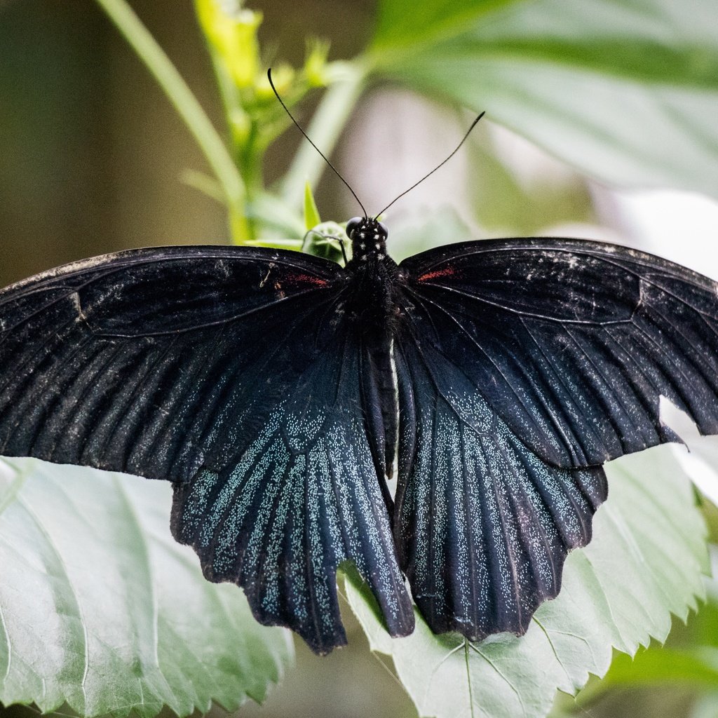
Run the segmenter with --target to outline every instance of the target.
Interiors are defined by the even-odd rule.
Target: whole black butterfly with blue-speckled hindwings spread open
[[[352,561],[391,635],[526,631],[591,538],[602,464],[718,433],[718,284],[561,238],[346,266],[137,249],[0,292],[0,454],[169,480],[205,577],[313,651],[345,643]],[[396,495],[387,479],[395,465]]]

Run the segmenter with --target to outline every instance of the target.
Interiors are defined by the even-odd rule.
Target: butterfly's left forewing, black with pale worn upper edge
[[[269,355],[336,279],[334,265],[309,267],[302,256],[161,248],[4,290],[0,451],[173,481],[225,462],[216,426],[228,402],[307,361],[304,337],[291,358]],[[250,365],[256,376],[241,376]]]

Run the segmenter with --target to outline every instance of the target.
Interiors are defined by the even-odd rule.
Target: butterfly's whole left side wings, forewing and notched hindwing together
[[[174,482],[208,578],[317,652],[351,559],[391,633],[413,615],[363,402],[345,272],[257,248],[137,250],[0,294],[0,454]]]

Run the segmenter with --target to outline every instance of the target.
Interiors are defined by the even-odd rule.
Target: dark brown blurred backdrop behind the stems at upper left
[[[131,4],[222,127],[192,3]],[[294,65],[304,59],[309,34],[332,39],[332,57],[358,52],[373,10],[371,3],[331,0],[253,8],[264,13],[267,50]],[[304,117],[311,107],[309,98]],[[297,135],[271,147],[268,179],[286,169]],[[122,248],[228,241],[224,208],[181,180],[185,169],[208,172],[197,145],[90,0],[0,1],[0,140],[3,285]],[[321,209],[346,219],[342,188],[335,180],[327,187]]]

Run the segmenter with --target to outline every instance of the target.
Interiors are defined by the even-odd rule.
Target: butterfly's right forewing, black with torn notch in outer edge
[[[718,433],[717,285],[628,248],[516,239],[401,264],[428,341],[523,443],[556,466],[598,465],[677,437],[660,396]]]

